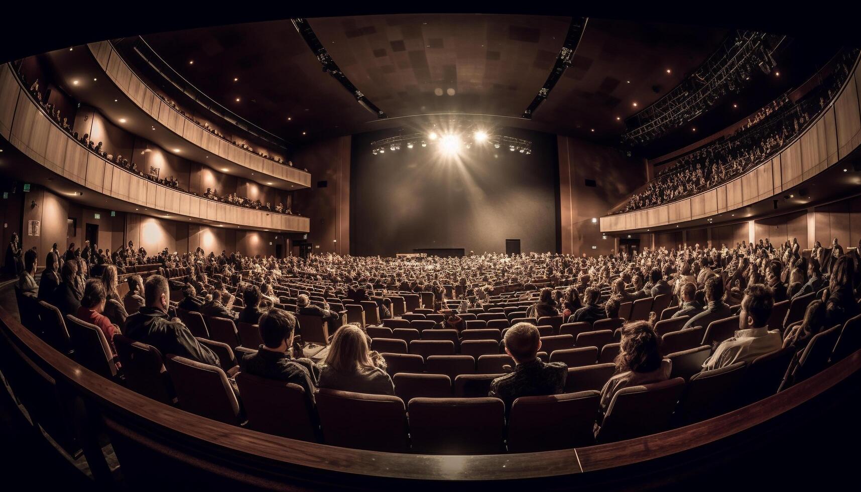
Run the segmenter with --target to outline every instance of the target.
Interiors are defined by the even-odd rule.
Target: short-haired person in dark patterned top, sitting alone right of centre
[[[517,364],[503,377],[497,377],[487,395],[505,402],[506,412],[520,396],[557,395],[565,389],[568,366],[561,362],[542,362],[538,328],[531,323],[517,323],[505,332],[505,353]]]

